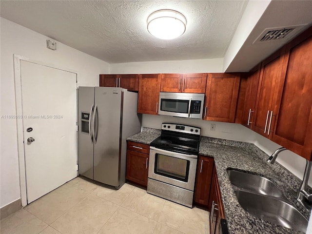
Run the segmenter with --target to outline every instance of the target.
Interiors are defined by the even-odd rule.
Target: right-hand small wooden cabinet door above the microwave
[[[207,73],[184,74],[182,92],[204,94],[206,90]]]

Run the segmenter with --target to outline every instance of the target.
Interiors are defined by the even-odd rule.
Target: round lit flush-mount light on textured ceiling
[[[159,10],[147,18],[147,30],[159,39],[175,39],[186,29],[186,18],[174,10]]]

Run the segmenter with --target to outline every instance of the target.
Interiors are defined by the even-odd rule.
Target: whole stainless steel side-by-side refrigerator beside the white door
[[[140,132],[137,93],[79,87],[79,175],[120,188],[126,180],[126,138]]]

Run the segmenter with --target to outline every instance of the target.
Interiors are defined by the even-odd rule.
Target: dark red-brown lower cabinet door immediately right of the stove
[[[213,176],[214,158],[199,156],[195,184],[194,200],[196,203],[208,207],[210,186]]]

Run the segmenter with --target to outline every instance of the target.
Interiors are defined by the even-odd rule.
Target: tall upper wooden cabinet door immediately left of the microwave
[[[160,74],[139,75],[137,113],[158,115]]]

